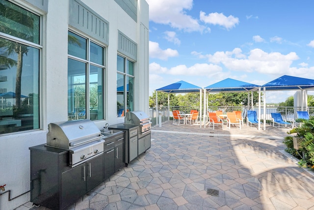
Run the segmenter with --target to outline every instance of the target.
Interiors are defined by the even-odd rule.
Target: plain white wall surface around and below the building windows
[[[138,0],[147,11],[142,19],[135,23],[114,0],[82,0],[96,13],[109,22],[109,45],[106,48],[106,75],[105,75],[105,115],[107,120],[95,121],[99,128],[106,122],[116,124],[124,119],[116,117],[116,60],[118,47],[118,30],[137,43],[138,52],[136,68],[135,108],[148,112],[148,4],[145,0]],[[16,2],[25,3],[24,0]],[[34,8],[36,9],[36,8]],[[139,11],[139,8],[138,8]],[[38,10],[40,12],[40,10]],[[11,198],[30,190],[29,147],[46,143],[48,124],[50,122],[67,120],[67,37],[68,37],[69,0],[50,0],[48,14],[44,15],[44,52],[41,72],[41,128],[36,131],[0,135],[0,185],[5,190],[11,190]],[[141,27],[140,21],[145,26]],[[145,29],[144,35],[141,29]],[[140,44],[145,36],[145,44]],[[140,47],[139,47],[140,46]],[[144,60],[145,59],[145,60]],[[144,71],[145,72],[142,72]],[[146,90],[147,89],[147,90]],[[144,110],[144,111],[146,111]],[[0,209],[13,210],[30,199],[26,193],[12,201],[8,201],[8,193],[0,196]]]

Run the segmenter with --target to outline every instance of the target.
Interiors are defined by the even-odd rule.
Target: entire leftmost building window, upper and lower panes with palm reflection
[[[41,17],[0,0],[0,134],[38,129]]]

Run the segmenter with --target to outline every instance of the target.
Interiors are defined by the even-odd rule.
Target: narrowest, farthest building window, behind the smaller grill
[[[124,117],[125,112],[134,111],[133,84],[134,84],[134,62],[118,55],[117,56],[118,117]]]

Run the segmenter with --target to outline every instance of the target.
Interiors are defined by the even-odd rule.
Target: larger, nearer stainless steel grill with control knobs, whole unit
[[[75,167],[104,152],[102,137],[91,120],[54,122],[48,125],[46,146],[69,150],[69,165]]]

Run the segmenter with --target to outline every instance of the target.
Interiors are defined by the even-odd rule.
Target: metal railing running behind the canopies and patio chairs
[[[191,110],[199,110],[200,107],[187,107],[187,106],[171,106],[168,110],[168,107],[156,107],[149,109],[149,117],[152,121],[152,127],[157,125],[157,118],[159,115],[159,112],[161,114],[161,123],[168,121],[169,119],[172,120],[172,111],[173,110],[179,110],[182,113],[189,113]],[[242,118],[245,119],[247,116],[247,107],[209,107],[209,112],[215,112],[216,110],[222,110],[224,113],[226,112],[233,112],[233,111],[242,111]],[[259,116],[259,108],[253,107]],[[271,121],[271,114],[270,113],[277,113],[279,112],[283,120],[295,120],[297,119],[296,111],[301,111],[301,107],[266,107],[265,112],[265,119],[267,121]],[[309,115],[314,116],[314,107],[308,107]],[[264,119],[264,109],[261,107],[261,119]]]

